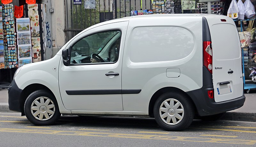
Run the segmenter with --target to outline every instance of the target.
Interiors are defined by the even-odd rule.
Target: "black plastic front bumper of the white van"
[[[10,87],[8,88],[8,103],[9,109],[16,112],[22,112],[20,107],[20,95],[22,90],[17,86],[15,80],[12,80]]]

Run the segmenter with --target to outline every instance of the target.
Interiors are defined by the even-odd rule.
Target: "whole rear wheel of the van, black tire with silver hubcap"
[[[156,122],[167,131],[181,131],[188,128],[194,119],[194,111],[191,100],[181,92],[164,93],[154,105]]]

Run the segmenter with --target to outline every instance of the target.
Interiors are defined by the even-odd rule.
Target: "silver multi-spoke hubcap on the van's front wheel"
[[[31,105],[31,114],[39,121],[46,121],[52,118],[55,113],[55,105],[52,99],[39,97]]]

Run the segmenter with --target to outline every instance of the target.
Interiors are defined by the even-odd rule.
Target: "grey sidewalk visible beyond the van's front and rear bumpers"
[[[256,90],[251,90],[249,94],[244,95],[246,97],[244,106],[227,112],[221,120],[256,122]],[[0,112],[13,112],[8,107],[7,89],[0,89]]]

